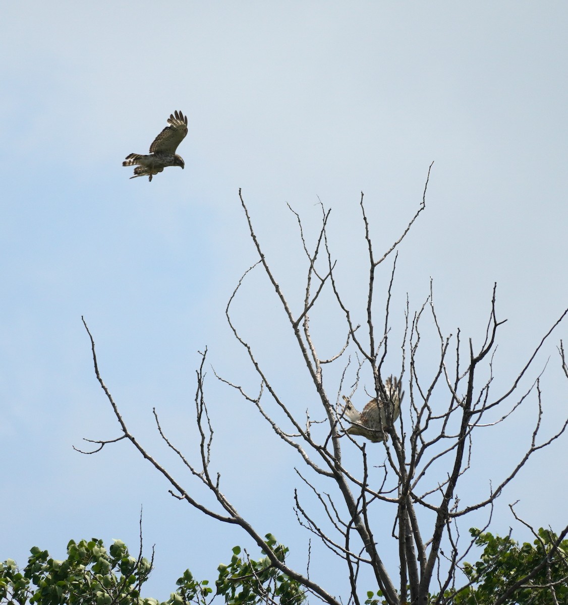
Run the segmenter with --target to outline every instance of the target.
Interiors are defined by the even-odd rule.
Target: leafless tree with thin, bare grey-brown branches
[[[430,169],[432,166],[430,166]],[[245,212],[251,240],[256,247],[259,261],[240,278],[226,307],[226,319],[234,336],[242,345],[259,377],[259,391],[251,394],[233,381],[217,376],[250,404],[266,420],[269,430],[296,450],[301,464],[296,468],[300,483],[319,502],[319,508],[306,506],[298,490],[294,493],[297,520],[311,534],[340,558],[345,564],[349,578],[349,595],[336,597],[322,584],[309,577],[308,571],[292,569],[282,557],[278,557],[265,538],[257,531],[254,520],[244,518],[220,489],[220,475],[211,468],[211,448],[213,431],[206,406],[205,361],[206,351],[196,371],[197,391],[196,423],[200,434],[199,463],[190,462],[171,440],[160,425],[154,408],[154,417],[160,436],[168,447],[179,456],[191,471],[197,483],[212,492],[218,506],[210,508],[197,499],[195,486],[191,489],[160,465],[150,453],[130,433],[119,407],[111,396],[99,373],[95,355],[94,339],[84,321],[91,339],[94,370],[105,395],[119,422],[121,434],[116,439],[91,440],[100,451],[105,445],[122,439],[129,440],[142,456],[170,482],[173,497],[187,501],[191,506],[221,523],[240,526],[257,545],[268,554],[271,564],[284,574],[299,581],[306,591],[331,605],[352,603],[360,605],[360,594],[368,586],[358,585],[363,569],[374,575],[376,585],[389,605],[401,603],[426,604],[450,603],[452,595],[461,589],[460,567],[464,557],[471,551],[474,540],[460,543],[460,520],[466,515],[487,509],[487,525],[495,500],[503,488],[517,477],[530,456],[558,439],[568,425],[568,419],[558,427],[552,436],[541,437],[543,404],[539,374],[528,388],[521,392],[521,379],[526,378],[537,354],[543,348],[553,330],[563,321],[568,309],[560,316],[533,350],[528,361],[520,369],[512,384],[504,391],[494,394],[493,356],[500,326],[505,320],[499,319],[496,310],[497,286],[494,287],[489,305],[487,329],[480,348],[474,348],[472,339],[463,341],[457,335],[444,335],[438,322],[431,292],[424,304],[415,312],[409,308],[408,298],[405,309],[405,329],[400,343],[400,365],[396,376],[392,367],[386,370],[387,353],[391,343],[391,293],[394,284],[398,246],[408,234],[415,220],[423,212],[426,204],[428,177],[424,185],[421,204],[408,226],[385,253],[377,255],[371,237],[371,226],[365,212],[363,194],[360,199],[362,225],[368,250],[368,290],[365,302],[364,327],[357,324],[356,315],[349,309],[337,278],[336,265],[328,241],[328,221],[330,211],[322,206],[322,222],[312,249],[306,243],[304,227],[299,215],[294,212],[299,225],[299,237],[306,257],[306,279],[303,286],[303,304],[300,309],[292,309],[285,293],[279,286],[276,275],[263,252],[259,237],[253,226],[248,208],[239,191],[240,203]],[[291,209],[292,211],[292,209]],[[293,211],[292,211],[293,212]],[[392,255],[392,257],[391,257]],[[385,261],[394,258],[386,292],[386,303],[375,302],[375,278],[386,267]],[[297,350],[305,365],[313,385],[317,409],[311,408],[305,418],[300,418],[286,398],[274,387],[274,379],[263,368],[253,347],[246,341],[231,316],[231,304],[239,293],[249,272],[259,267],[277,295],[277,304],[285,316],[297,342]],[[323,296],[331,298],[337,309],[335,325],[343,326],[345,344],[330,358],[320,357],[317,342],[310,329],[310,317],[315,313],[317,303]],[[380,307],[380,308],[379,308]],[[434,322],[437,342],[423,344],[421,326],[424,318]],[[421,371],[418,353],[426,348],[430,359],[437,359],[435,371],[428,374]],[[560,367],[568,378],[566,357],[562,343],[558,349]],[[324,380],[324,366],[340,368],[339,385]],[[350,398],[360,388],[360,376],[365,372],[372,376],[374,392],[371,401],[358,414],[352,407]],[[327,375],[327,374],[326,374]],[[481,377],[481,378],[480,378]],[[346,388],[346,382],[351,382]],[[403,397],[401,384],[405,384],[408,397]],[[349,391],[348,410],[340,405],[341,396]],[[486,485],[486,493],[476,502],[463,504],[457,497],[458,482],[463,482],[472,468],[472,443],[478,431],[487,431],[507,422],[512,413],[522,408],[529,399],[536,399],[538,416],[530,437],[530,445],[518,462],[501,477],[496,486]],[[400,414],[399,414],[400,411]],[[347,412],[347,413],[346,413]],[[373,413],[374,412],[374,413]],[[283,420],[277,422],[278,415]],[[369,417],[375,425],[365,424]],[[323,420],[314,421],[312,417]],[[351,422],[350,422],[351,421]],[[353,424],[351,424],[353,423]],[[378,425],[377,425],[378,423]],[[375,431],[376,438],[373,438]],[[362,442],[355,436],[366,436],[374,444]],[[485,437],[487,439],[487,437]],[[385,463],[376,466],[377,450],[381,448]],[[343,450],[356,451],[358,462],[343,462]],[[371,457],[370,457],[371,456]],[[352,456],[351,456],[352,460]],[[355,468],[353,470],[352,468]],[[380,514],[379,512],[380,511]],[[378,518],[389,518],[385,511],[391,511],[394,523],[392,540],[397,543],[398,561],[393,569],[385,560],[383,544],[376,538]],[[554,546],[557,548],[566,536],[568,526],[563,529]],[[463,541],[463,538],[461,538]],[[546,562],[543,562],[543,565]],[[394,575],[396,573],[396,576]],[[521,582],[522,583],[522,582]],[[551,584],[551,590],[553,586]],[[432,594],[438,595],[435,599]],[[503,603],[509,594],[496,595],[495,603]]]

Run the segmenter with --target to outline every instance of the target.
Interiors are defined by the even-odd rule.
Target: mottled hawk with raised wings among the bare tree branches
[[[388,441],[389,436],[386,433],[387,422],[388,420],[394,422],[400,416],[400,401],[404,393],[401,393],[400,384],[398,384],[396,378],[393,381],[392,376],[385,381],[385,392],[389,397],[388,402],[378,401],[377,403],[377,399],[371,399],[362,412],[355,410],[351,401],[345,395],[343,396],[345,407],[343,408],[342,416],[347,416],[349,422],[352,423],[346,433],[366,437],[366,439],[369,439],[373,443]],[[391,406],[391,414],[389,416],[392,415],[392,417],[389,419],[386,417],[385,403]]]

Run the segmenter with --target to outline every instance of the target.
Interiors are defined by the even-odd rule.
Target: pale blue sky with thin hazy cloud
[[[360,192],[386,249],[435,160],[426,211],[401,248],[395,328],[406,293],[416,308],[432,277],[444,329],[480,344],[497,281],[509,321],[495,373],[510,381],[568,306],[567,27],[564,2],[5,3],[0,560],[24,564],[34,545],[63,558],[83,537],[134,550],[144,505],[145,543],[156,544],[148,592],[165,599],[186,567],[213,579],[232,546],[248,545],[173,500],[126,443],[90,457],[71,448],[118,435],[81,315],[125,419],[164,460],[151,408],[193,452],[197,350],[208,346],[217,371],[256,389],[224,316],[256,260],[239,187],[294,304],[305,263],[286,203],[312,237],[318,197],[332,208],[338,275],[355,307],[365,287]],[[185,170],[129,180],[122,160],[145,152],[174,110],[188,114]],[[302,399],[305,376],[297,359],[283,361],[296,351],[275,309],[266,279],[252,276],[236,318],[274,381]],[[331,351],[326,322],[337,315],[322,313],[314,330]],[[568,342],[566,324],[530,374],[550,356],[545,432],[568,407],[560,338]],[[272,450],[253,411],[208,380],[226,494],[301,565],[296,457]],[[527,406],[497,444],[480,442],[472,493],[526,446],[534,412]],[[566,454],[564,439],[527,465],[494,532],[514,524],[506,505],[519,498],[527,521],[566,525]],[[324,561],[312,560],[314,576],[320,566],[329,577]]]

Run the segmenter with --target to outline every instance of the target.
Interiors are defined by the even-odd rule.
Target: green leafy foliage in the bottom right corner
[[[550,555],[558,536],[547,529],[538,530],[540,540],[535,540],[532,545],[527,542],[519,545],[509,536],[502,538],[475,528],[470,532],[475,544],[484,547],[477,563],[464,564],[464,572],[471,586],[441,602],[455,605],[494,603],[495,598],[530,574],[543,560],[548,560],[535,577],[515,590],[505,604],[550,605],[554,602],[551,589],[547,586],[551,582],[557,602],[568,603],[568,540],[563,540],[560,548]],[[450,593],[444,596],[450,597]]]

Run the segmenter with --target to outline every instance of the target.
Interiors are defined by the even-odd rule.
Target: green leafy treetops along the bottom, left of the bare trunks
[[[266,544],[278,560],[284,560],[288,549],[271,534],[266,535]],[[64,561],[51,558],[36,546],[30,552],[23,571],[12,559],[0,563],[2,605],[207,605],[211,601],[213,589],[208,581],[195,580],[188,569],[167,601],[142,598],[140,588],[148,580],[152,564],[142,556],[131,557],[120,540],[108,551],[102,540],[71,540]],[[240,552],[235,546],[231,563],[219,566],[216,594],[226,603],[256,605],[272,600],[300,605],[305,600],[300,584],[277,571],[268,557],[253,561],[247,556],[243,560]]]

